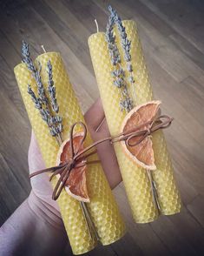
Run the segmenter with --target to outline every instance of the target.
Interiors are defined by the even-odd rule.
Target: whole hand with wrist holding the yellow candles
[[[97,100],[84,116],[93,140],[109,137],[101,100]],[[100,125],[102,123],[102,125]],[[100,129],[96,132],[97,127]],[[103,143],[97,146],[103,170],[111,188],[121,182],[121,174],[113,146]],[[30,173],[45,168],[43,158],[32,132],[29,149]],[[0,229],[0,251],[3,255],[62,255],[68,245],[67,233],[56,201],[52,199],[52,187],[46,173],[31,179],[32,190]],[[70,254],[70,246],[67,246]],[[69,253],[68,253],[69,252]],[[66,254],[66,255],[67,255]]]

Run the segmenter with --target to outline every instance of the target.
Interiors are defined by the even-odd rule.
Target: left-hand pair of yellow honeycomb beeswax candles
[[[63,116],[63,139],[65,139],[69,137],[70,126],[76,121],[84,122],[84,119],[75,93],[69,83],[69,77],[65,71],[62,58],[56,52],[44,53],[36,58],[36,61],[40,61],[42,64],[43,84],[47,84],[46,67],[48,60],[53,65],[53,80],[56,85],[56,98],[60,108],[60,115]],[[27,92],[27,84],[31,84],[32,89],[36,92],[35,81],[25,64],[18,64],[14,71],[45,164],[47,167],[56,165],[56,154],[58,152],[56,139],[49,135],[47,125],[41,119]],[[91,138],[88,134],[85,146],[90,143]],[[97,159],[97,156],[95,155],[91,158]],[[125,232],[125,226],[100,164],[89,165],[87,183],[90,197],[89,212],[101,237],[102,244],[109,245],[122,237]],[[53,181],[53,185],[55,184],[56,179]],[[73,253],[89,252],[96,246],[96,241],[89,236],[79,202],[70,197],[65,190],[63,190],[57,202]]]

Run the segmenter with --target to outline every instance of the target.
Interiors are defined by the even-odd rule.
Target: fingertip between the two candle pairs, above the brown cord
[[[84,115],[85,121],[91,130],[95,130],[102,123],[104,117],[101,98],[98,98]]]

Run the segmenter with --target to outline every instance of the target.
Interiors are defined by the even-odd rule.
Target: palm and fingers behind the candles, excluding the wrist
[[[90,107],[89,111],[87,111],[84,115],[84,118],[91,137],[94,141],[109,136],[109,128],[106,120],[102,122],[102,119],[104,118],[104,112],[102,110],[102,103],[100,99],[97,100],[95,104]],[[102,125],[100,126],[100,129],[96,131],[97,127],[101,123]],[[109,185],[111,188],[114,188],[115,185],[118,185],[121,182],[122,177],[117,165],[113,145],[111,145],[109,142],[98,145],[97,153],[101,160],[103,170],[109,181]],[[45,168],[43,158],[33,132],[31,134],[28,159],[30,173]],[[49,183],[49,176],[46,173],[43,173],[41,175],[33,177],[30,182],[32,186],[32,191],[35,193],[36,197],[43,202],[46,202],[46,204],[49,204],[53,208],[53,211],[57,210],[58,215],[60,216],[56,201],[51,199],[53,189]]]

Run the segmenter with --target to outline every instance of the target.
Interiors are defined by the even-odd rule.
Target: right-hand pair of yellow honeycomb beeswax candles
[[[135,105],[143,104],[153,99],[152,87],[149,83],[148,71],[135,22],[123,21],[123,24],[126,27],[128,39],[131,40],[131,64],[133,65],[133,77],[135,79],[135,94],[132,92],[132,98]],[[118,49],[121,56],[123,56],[117,30],[115,30],[115,37]],[[125,112],[122,112],[119,107],[121,92],[113,85],[113,77],[111,76],[113,66],[110,63],[108,45],[103,32],[89,37],[89,50],[109,130],[111,135],[114,136],[120,133]],[[122,66],[126,70],[123,57]],[[136,95],[136,98],[134,98],[134,95]],[[157,166],[157,170],[154,171],[154,179],[157,185],[161,213],[168,215],[180,212],[181,199],[174,182],[174,171],[162,131],[153,135],[153,146],[155,165]],[[135,222],[147,223],[155,220],[159,212],[153,203],[147,173],[123,153],[120,144],[115,144],[115,153]]]

